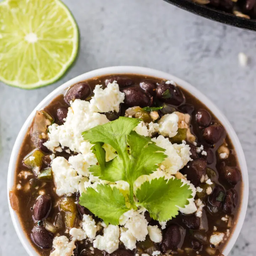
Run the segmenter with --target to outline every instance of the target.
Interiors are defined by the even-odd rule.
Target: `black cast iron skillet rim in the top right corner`
[[[223,11],[212,9],[207,5],[196,4],[194,2],[191,2],[190,0],[164,0],[164,1],[214,21],[222,22],[235,27],[245,28],[247,30],[256,31],[256,20],[240,18]]]

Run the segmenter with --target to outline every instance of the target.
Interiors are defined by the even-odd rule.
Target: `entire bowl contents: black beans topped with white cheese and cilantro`
[[[39,110],[13,207],[39,255],[221,255],[239,212],[222,124],[174,81],[82,81]]]

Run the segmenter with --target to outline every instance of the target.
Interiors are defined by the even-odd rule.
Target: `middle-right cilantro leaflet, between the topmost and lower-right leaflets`
[[[144,137],[132,131],[127,138],[130,146],[130,167],[127,180],[134,182],[141,175],[151,174],[167,157],[165,149],[156,146],[150,137]]]

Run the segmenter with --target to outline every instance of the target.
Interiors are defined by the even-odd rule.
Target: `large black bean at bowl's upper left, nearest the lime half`
[[[87,82],[79,82],[73,85],[65,94],[64,101],[70,104],[70,101],[76,99],[85,100],[91,94],[91,87]]]

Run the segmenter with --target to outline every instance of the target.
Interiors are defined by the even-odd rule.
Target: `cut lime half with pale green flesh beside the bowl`
[[[78,34],[59,0],[0,2],[0,80],[23,89],[58,80],[76,57]]]

